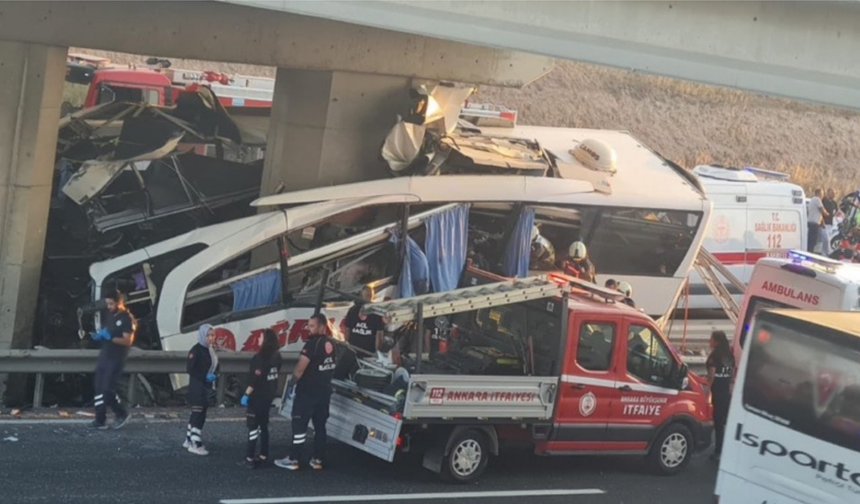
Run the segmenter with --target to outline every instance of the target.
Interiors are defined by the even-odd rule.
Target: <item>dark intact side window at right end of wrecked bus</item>
[[[585,244],[598,272],[669,277],[687,256],[700,221],[698,213],[606,208]]]

